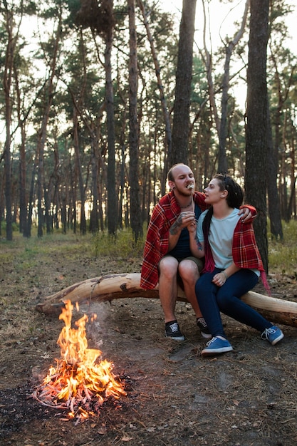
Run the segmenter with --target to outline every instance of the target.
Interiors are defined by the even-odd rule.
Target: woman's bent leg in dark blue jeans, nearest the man
[[[219,270],[216,269],[212,273],[202,274],[196,282],[195,293],[199,308],[212,336],[223,336],[226,338],[216,299],[218,287],[212,283],[212,278],[217,272]]]

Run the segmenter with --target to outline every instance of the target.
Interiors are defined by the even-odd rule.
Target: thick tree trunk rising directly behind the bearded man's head
[[[175,82],[170,165],[188,162],[189,105],[191,101],[193,42],[197,0],[183,0]]]

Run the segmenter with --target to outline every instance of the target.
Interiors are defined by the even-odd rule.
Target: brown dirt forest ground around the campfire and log
[[[140,256],[95,258],[72,245],[0,243],[0,444],[1,445],[297,445],[297,331],[281,326],[277,346],[224,316],[234,351],[202,358],[188,304],[177,303],[186,341],[164,336],[157,299],[117,299],[81,306],[97,313],[88,345],[100,348],[125,383],[127,396],[106,401],[100,413],[75,425],[66,414],[32,398],[48,367],[60,357],[63,322],[35,310],[46,296],[107,273],[139,272]],[[269,276],[272,294],[297,301],[296,278]],[[261,286],[254,291],[263,292]]]

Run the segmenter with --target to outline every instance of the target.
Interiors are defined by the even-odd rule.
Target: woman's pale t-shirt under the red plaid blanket
[[[214,266],[219,269],[226,269],[233,263],[232,242],[236,224],[240,219],[239,209],[233,209],[231,214],[222,219],[212,216],[212,222],[209,227],[209,245],[212,249]],[[199,242],[204,242],[202,223],[207,211],[202,212],[197,224],[197,237]],[[259,271],[253,269],[257,276]]]

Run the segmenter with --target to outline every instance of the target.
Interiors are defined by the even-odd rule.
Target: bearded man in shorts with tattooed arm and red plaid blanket
[[[195,192],[194,175],[187,165],[179,163],[172,166],[167,180],[170,192],[156,204],[147,229],[140,286],[153,289],[159,282],[159,296],[165,315],[165,336],[175,341],[184,341],[174,314],[177,284],[180,284],[192,305],[202,336],[210,339],[212,336],[195,295],[195,284],[203,262],[191,252],[187,229],[190,224],[196,224],[208,205],[204,202],[204,194]],[[241,209],[239,213],[243,221],[251,218],[251,209],[254,208]]]

